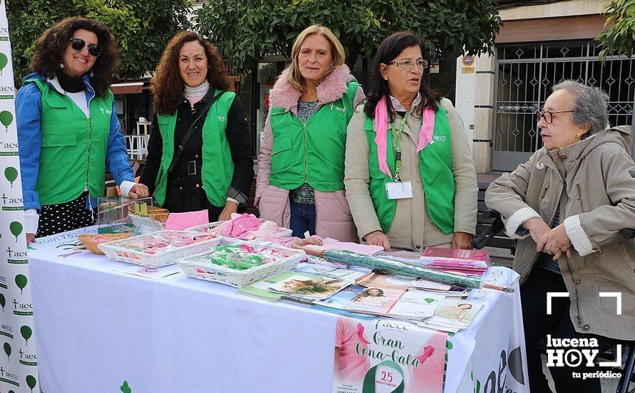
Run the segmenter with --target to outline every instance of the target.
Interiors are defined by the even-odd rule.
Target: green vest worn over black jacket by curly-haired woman
[[[203,166],[201,179],[205,187],[205,194],[211,204],[218,207],[225,206],[227,190],[234,176],[234,161],[231,158],[229,142],[225,129],[227,115],[234,101],[235,93],[231,91],[214,91],[214,95],[222,94],[210,107],[205,123],[203,123]],[[154,197],[159,206],[163,207],[168,189],[168,168],[174,158],[174,129],[176,128],[177,110],[173,114],[157,114],[158,128],[163,139],[163,155],[161,166],[155,181]]]

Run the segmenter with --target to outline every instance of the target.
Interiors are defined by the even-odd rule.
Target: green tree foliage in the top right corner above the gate
[[[607,4],[604,9],[606,24],[614,23],[611,28],[601,32],[596,40],[603,49],[599,53],[601,59],[609,54],[633,55],[635,46],[635,0],[616,0]]]

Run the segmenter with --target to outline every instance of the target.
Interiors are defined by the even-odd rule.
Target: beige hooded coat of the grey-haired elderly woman
[[[527,280],[539,253],[529,234],[516,231],[532,217],[560,222],[575,249],[559,261],[571,298],[577,332],[635,339],[635,240],[619,231],[635,227],[635,164],[627,153],[629,126],[602,131],[562,149],[539,149],[525,164],[503,174],[487,189],[485,203],[500,212],[505,230],[518,242],[514,270]],[[621,297],[618,302],[609,294]]]

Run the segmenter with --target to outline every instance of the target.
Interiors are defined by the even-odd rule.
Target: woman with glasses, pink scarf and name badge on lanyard
[[[348,124],[346,199],[367,244],[467,249],[477,214],[472,151],[452,103],[422,80],[422,48],[409,33],[380,44],[372,94]]]

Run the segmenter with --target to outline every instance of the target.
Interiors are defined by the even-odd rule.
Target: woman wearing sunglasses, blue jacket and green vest
[[[108,89],[117,61],[111,32],[91,19],[64,19],[36,44],[16,96],[27,243],[93,224],[106,166],[124,195],[148,196],[133,182]]]

